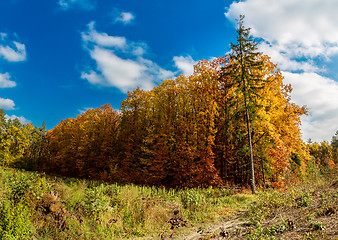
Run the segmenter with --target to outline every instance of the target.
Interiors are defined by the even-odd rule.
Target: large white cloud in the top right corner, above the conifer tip
[[[335,0],[247,0],[234,2],[225,14],[230,20],[244,14],[254,36],[312,57],[337,49],[337,8]]]

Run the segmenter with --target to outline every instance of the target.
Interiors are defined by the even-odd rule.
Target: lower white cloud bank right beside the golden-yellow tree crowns
[[[292,99],[309,107],[309,116],[302,117],[303,139],[331,140],[338,129],[338,83],[316,73],[283,75],[292,84]]]

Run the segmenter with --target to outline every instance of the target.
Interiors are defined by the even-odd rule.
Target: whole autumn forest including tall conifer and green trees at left
[[[305,143],[292,87],[239,21],[230,53],[53,129],[0,112],[2,166],[167,188],[272,186],[334,169],[338,137]]]

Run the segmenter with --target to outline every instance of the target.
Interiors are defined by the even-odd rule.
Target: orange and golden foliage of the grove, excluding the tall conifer
[[[299,129],[306,109],[291,102],[276,65],[257,57],[266,84],[249,101],[256,178],[279,182],[308,159]],[[41,169],[166,187],[245,185],[245,109],[229,66],[228,56],[203,60],[191,76],[129,92],[120,114],[104,105],[62,121],[47,133]]]

